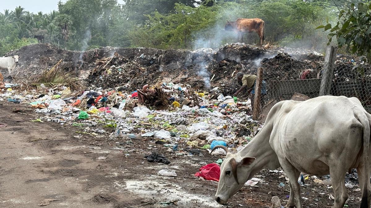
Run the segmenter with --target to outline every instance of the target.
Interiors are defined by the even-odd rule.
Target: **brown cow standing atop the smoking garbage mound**
[[[241,43],[243,43],[244,33],[252,33],[253,31],[255,31],[260,37],[260,45],[263,45],[264,21],[262,19],[239,18],[236,21],[232,21],[232,22],[227,20],[227,24],[226,26],[224,26],[224,30],[237,32],[237,41],[240,40],[240,36],[241,36]]]

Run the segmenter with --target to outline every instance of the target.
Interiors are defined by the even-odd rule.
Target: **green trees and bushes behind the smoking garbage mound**
[[[336,6],[359,0],[68,0],[58,11],[30,13],[22,6],[0,13],[0,56],[10,50],[47,43],[70,50],[101,46],[184,48],[219,47],[236,42],[224,31],[227,20],[260,18],[265,40],[289,47],[321,50],[327,43],[318,25],[338,21]],[[258,43],[255,33],[245,42]]]

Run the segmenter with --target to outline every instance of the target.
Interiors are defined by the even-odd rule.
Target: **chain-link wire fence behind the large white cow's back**
[[[331,87],[326,94],[357,97],[371,112],[371,67],[358,59],[340,55],[334,59]],[[326,70],[322,60],[295,60],[287,54],[279,54],[262,62],[260,67],[267,88],[261,120],[265,120],[270,108],[279,101],[303,101],[320,95],[322,76]]]

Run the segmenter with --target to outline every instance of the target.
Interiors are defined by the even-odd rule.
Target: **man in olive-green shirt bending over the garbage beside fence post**
[[[236,74],[236,79],[240,83],[242,82],[242,87],[237,90],[236,93],[233,94],[234,97],[237,97],[237,95],[243,91],[246,87],[249,88],[247,93],[250,93],[250,100],[251,100],[251,108],[253,108],[254,105],[254,96],[255,96],[255,83],[256,83],[256,75],[252,74],[246,74],[244,75],[242,72],[239,72]],[[262,82],[262,90],[260,92],[262,96],[260,97],[260,104],[263,104],[263,97],[265,94],[267,94],[267,83],[263,80]]]

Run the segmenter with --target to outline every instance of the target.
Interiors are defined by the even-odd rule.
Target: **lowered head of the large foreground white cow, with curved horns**
[[[220,166],[219,184],[215,194],[215,201],[224,204],[249,180],[252,171],[251,164],[255,158],[237,158],[224,146],[218,145],[213,150],[216,148],[223,148],[227,152],[226,158]]]

